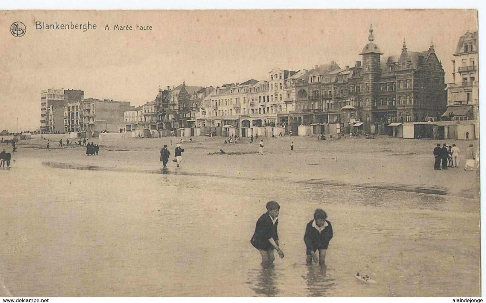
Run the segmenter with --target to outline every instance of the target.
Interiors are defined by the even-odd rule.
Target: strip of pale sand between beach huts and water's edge
[[[66,136],[45,137],[51,141],[51,152],[45,150],[47,140],[37,136],[20,141],[19,152],[13,159],[38,158],[78,169],[164,173],[159,169],[162,166],[159,150],[167,144],[172,160],[175,144],[180,140],[180,137],[91,138],[89,142],[100,145],[100,155],[86,156],[83,146],[58,148],[59,138],[65,141]],[[439,142],[378,136],[318,141],[312,136],[263,137],[265,153],[258,155],[259,140],[250,144],[248,138],[243,138],[238,144],[223,144],[222,137],[194,137],[192,142],[184,138],[181,169],[167,173],[382,188],[479,199],[479,172],[464,171],[466,149],[470,143],[477,148],[478,140]],[[294,151],[290,150],[291,142]],[[433,169],[435,143],[459,147],[462,152],[459,168]],[[168,166],[175,167],[175,164],[170,161]]]

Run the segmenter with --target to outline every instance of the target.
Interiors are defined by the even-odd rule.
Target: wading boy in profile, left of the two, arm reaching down
[[[280,205],[275,201],[269,201],[266,204],[267,212],[260,216],[255,227],[255,233],[251,237],[251,245],[258,249],[261,255],[261,265],[271,265],[274,260],[274,250],[277,250],[280,258],[284,254],[278,247],[278,214]]]

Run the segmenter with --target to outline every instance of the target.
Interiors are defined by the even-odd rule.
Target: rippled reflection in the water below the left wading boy
[[[250,283],[256,297],[278,297],[280,291],[276,284],[275,270],[274,265],[250,270],[247,283]]]

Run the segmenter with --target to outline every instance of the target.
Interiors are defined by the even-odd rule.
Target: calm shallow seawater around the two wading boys
[[[479,296],[477,200],[26,159],[0,182],[1,296]],[[262,268],[249,239],[268,200],[285,257]],[[315,208],[326,267],[305,264]]]

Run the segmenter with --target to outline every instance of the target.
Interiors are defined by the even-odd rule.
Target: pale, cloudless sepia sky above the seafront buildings
[[[475,10],[0,11],[0,129],[40,126],[40,91],[84,90],[85,98],[155,99],[159,87],[220,86],[268,79],[335,61],[354,66],[373,24],[383,56],[434,43],[446,82],[459,36],[477,30]],[[27,32],[10,34],[22,21]],[[96,30],[36,30],[35,22],[96,24]],[[114,30],[131,25],[134,30]],[[137,31],[136,25],[152,26]],[[105,30],[105,25],[109,30]]]

